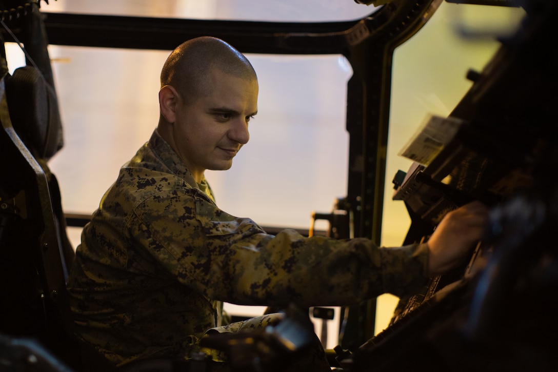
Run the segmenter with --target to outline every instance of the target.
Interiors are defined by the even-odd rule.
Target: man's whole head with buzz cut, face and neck
[[[248,59],[215,37],[179,45],[161,71],[157,132],[194,176],[225,170],[247,144],[258,112],[258,79]]]

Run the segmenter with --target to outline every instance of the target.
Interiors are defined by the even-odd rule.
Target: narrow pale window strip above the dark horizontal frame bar
[[[349,21],[375,9],[353,0],[57,0],[41,6],[45,12],[273,22]]]

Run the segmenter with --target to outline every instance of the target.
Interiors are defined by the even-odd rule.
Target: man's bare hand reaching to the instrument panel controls
[[[487,224],[488,208],[476,201],[446,214],[427,242],[429,274],[444,273],[463,261],[482,239]]]

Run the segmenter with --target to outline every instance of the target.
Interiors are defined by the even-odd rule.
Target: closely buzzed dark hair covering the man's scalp
[[[203,36],[172,51],[161,70],[161,88],[171,85],[186,103],[194,102],[214,88],[215,82],[208,79],[214,68],[237,78],[257,80],[256,71],[242,53],[223,40]]]

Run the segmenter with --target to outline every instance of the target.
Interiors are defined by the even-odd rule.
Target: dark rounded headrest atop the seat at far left
[[[36,157],[48,160],[64,145],[54,88],[33,66],[6,79],[6,98],[14,130]]]

